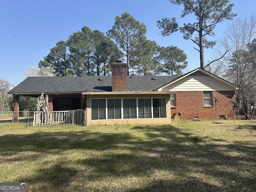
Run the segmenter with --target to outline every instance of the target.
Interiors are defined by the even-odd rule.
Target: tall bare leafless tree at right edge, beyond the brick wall
[[[250,118],[251,106],[256,102],[256,15],[238,16],[228,24],[221,39],[223,51],[228,50],[222,62],[225,78],[240,87],[236,92],[237,102],[245,108]]]

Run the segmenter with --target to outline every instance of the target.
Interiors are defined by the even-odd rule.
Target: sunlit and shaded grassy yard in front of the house
[[[0,124],[0,182],[30,192],[256,191],[256,121]]]

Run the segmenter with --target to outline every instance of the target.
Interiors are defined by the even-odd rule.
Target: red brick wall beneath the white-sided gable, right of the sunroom
[[[213,91],[218,98],[217,119],[224,115],[233,119],[233,104],[235,100],[234,91]],[[228,95],[226,97],[225,95]],[[171,116],[174,120],[207,120],[216,119],[215,98],[212,96],[212,106],[204,107],[203,91],[180,91],[176,92],[176,107],[171,108]],[[180,114],[182,112],[182,114]],[[236,117],[235,117],[236,118]]]

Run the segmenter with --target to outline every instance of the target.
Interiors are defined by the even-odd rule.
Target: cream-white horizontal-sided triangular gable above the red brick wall
[[[234,86],[202,72],[194,72],[162,88],[162,91],[231,91]]]

